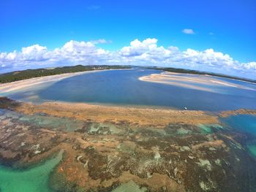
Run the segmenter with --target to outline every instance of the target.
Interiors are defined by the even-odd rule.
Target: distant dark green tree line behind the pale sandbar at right
[[[175,73],[186,73],[186,74],[204,74],[204,75],[211,75],[215,77],[224,77],[224,78],[229,78],[233,80],[243,80],[246,82],[255,82],[256,80],[251,80],[251,79],[246,79],[243,77],[235,77],[227,74],[218,74],[218,73],[211,73],[211,72],[200,72],[196,70],[190,70],[190,69],[179,69],[179,68],[172,68],[172,67],[167,67],[167,68],[161,68],[161,67],[149,67],[148,69],[157,69],[157,70],[162,70],[165,72],[175,72]]]

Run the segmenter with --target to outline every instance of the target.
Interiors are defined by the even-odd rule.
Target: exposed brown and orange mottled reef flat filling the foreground
[[[225,113],[7,98],[0,108],[4,170],[36,169],[64,151],[44,177],[50,191],[256,189],[255,136]]]

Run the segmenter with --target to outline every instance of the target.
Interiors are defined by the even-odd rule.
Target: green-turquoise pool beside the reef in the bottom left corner
[[[44,164],[31,169],[10,169],[0,166],[1,192],[53,192],[48,185],[50,172],[61,161],[62,152]]]

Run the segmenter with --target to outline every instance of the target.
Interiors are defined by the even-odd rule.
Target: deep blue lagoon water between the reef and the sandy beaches
[[[150,69],[110,70],[81,74],[60,80],[49,86],[12,93],[13,99],[26,101],[69,101],[92,104],[143,105],[188,110],[256,109],[256,91],[227,86],[202,85],[214,92],[200,91],[175,85],[138,80],[149,74],[160,73]],[[192,76],[192,74],[180,74]],[[256,85],[236,80],[213,77],[256,89]],[[195,84],[195,83],[194,83]],[[1,95],[1,93],[0,93]],[[36,96],[36,97],[33,97]]]

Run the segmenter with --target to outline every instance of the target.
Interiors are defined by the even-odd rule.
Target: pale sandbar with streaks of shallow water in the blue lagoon
[[[200,91],[209,91],[216,92],[212,88],[202,87],[202,85],[214,86],[214,87],[233,87],[233,88],[242,88],[250,91],[256,91],[256,89],[246,87],[244,85],[237,85],[232,82],[226,82],[224,80],[217,80],[211,76],[203,76],[190,74],[189,76],[184,76],[181,74],[173,72],[162,72],[161,74],[150,74],[147,76],[140,77],[139,80],[148,81],[148,82],[159,82],[165,83],[167,85],[181,86],[184,88],[191,88]],[[192,85],[194,83],[194,85]]]

